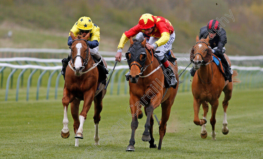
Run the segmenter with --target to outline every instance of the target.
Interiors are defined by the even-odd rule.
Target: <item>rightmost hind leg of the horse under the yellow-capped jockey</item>
[[[95,135],[94,135],[94,141],[95,144],[100,145],[99,140],[100,136],[98,134],[99,131],[99,122],[101,121],[101,111],[102,111],[102,98],[103,94],[102,91],[94,98],[94,123],[95,123]]]

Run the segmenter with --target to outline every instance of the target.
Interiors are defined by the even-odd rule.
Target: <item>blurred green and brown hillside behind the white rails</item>
[[[88,16],[101,29],[100,50],[116,51],[122,33],[143,13],[151,13],[173,24],[174,52],[188,52],[200,27],[216,18],[225,25],[227,54],[263,52],[263,0],[1,0],[0,4],[0,47],[67,48],[71,27],[79,17]],[[234,18],[226,16],[231,15],[229,10]]]

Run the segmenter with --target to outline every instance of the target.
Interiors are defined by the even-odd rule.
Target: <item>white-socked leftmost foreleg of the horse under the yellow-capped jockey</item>
[[[61,137],[63,138],[68,138],[70,136],[70,129],[68,128],[68,124],[69,124],[69,120],[68,120],[68,115],[67,115],[67,111],[68,111],[68,106],[70,103],[70,93],[69,91],[64,88],[63,91],[63,98],[62,98],[62,104],[64,107],[64,118],[63,118],[63,129],[61,130]]]

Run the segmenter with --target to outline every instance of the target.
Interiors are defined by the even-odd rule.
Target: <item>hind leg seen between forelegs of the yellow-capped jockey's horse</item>
[[[70,110],[71,110],[71,115],[74,120],[73,128],[74,128],[74,133],[77,133],[77,130],[80,127],[80,120],[79,120],[79,107],[80,107],[80,101],[77,99],[74,99],[70,103]],[[75,139],[75,147],[79,146],[79,139]]]

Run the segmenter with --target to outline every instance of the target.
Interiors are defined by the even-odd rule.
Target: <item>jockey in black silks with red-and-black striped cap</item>
[[[217,20],[215,19],[210,20],[206,26],[200,28],[199,40],[201,38],[207,38],[208,35],[210,38],[209,44],[210,47],[212,48],[212,52],[221,59],[221,62],[224,63],[228,67],[229,72],[233,74],[233,71],[230,68],[229,63],[224,56],[224,52],[225,52],[224,45],[226,44],[226,32],[220,26]]]

